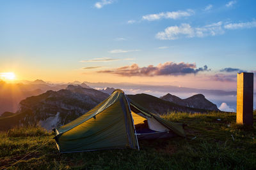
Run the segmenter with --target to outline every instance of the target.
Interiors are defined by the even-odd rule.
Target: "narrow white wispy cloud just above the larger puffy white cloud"
[[[193,10],[186,10],[186,11],[168,11],[168,12],[161,12],[161,13],[155,13],[155,14],[149,14],[142,16],[143,20],[153,21],[153,20],[160,20],[161,18],[171,18],[171,19],[177,19],[181,17],[189,17],[193,15],[195,11]]]

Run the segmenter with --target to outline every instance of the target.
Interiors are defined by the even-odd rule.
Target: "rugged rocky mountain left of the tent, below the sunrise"
[[[20,101],[19,110],[12,117],[0,118],[0,130],[15,125],[39,124],[47,130],[67,124],[91,110],[109,95],[99,90],[68,85],[57,92],[48,90],[44,94]]]

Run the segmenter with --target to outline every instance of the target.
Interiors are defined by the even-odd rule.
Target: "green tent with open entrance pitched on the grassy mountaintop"
[[[168,122],[148,112],[127,99],[119,89],[92,110],[53,131],[61,153],[140,149],[138,139],[185,136],[182,124]]]

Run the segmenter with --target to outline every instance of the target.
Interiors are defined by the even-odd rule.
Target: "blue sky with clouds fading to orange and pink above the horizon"
[[[249,0],[0,1],[0,73],[236,90],[237,73],[256,73],[255,6]]]

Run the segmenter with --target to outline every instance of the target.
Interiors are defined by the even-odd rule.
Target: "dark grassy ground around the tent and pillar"
[[[236,113],[164,118],[187,124],[187,138],[141,141],[140,152],[58,153],[54,134],[44,129],[0,132],[0,169],[256,169],[256,111],[253,127],[237,125]]]

